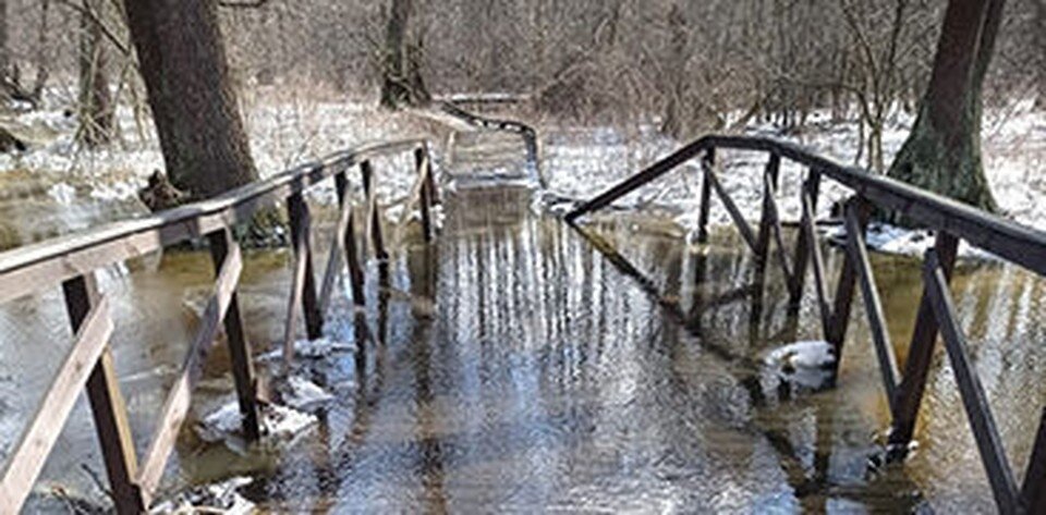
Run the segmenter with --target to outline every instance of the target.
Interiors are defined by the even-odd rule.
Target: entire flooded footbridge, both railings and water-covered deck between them
[[[521,136],[521,146],[504,137],[497,145],[526,155],[531,164],[515,170],[490,151],[464,149],[451,161],[457,171],[476,175],[487,165],[513,179],[539,171],[533,131],[466,120]],[[481,139],[469,134],[460,142]],[[757,226],[719,186],[717,149],[768,155]],[[409,208],[416,207],[418,220],[410,229],[416,236],[393,245],[375,193],[382,170],[373,163],[398,154],[414,161]],[[186,474],[197,453],[210,455],[197,466],[221,469],[217,476],[264,468],[250,496],[272,511],[911,511],[925,502],[919,478],[933,474],[926,465],[868,471],[865,462],[896,458],[907,449],[938,332],[957,378],[949,388],[968,414],[960,429],[975,437],[994,506],[1046,510],[1046,417],[1027,434],[1030,457],[1018,458],[1025,470],[1014,474],[949,289],[960,240],[1026,268],[1030,277],[1046,274],[1042,232],[764,139],[698,140],[580,205],[567,217],[570,223],[542,212],[531,188],[440,191],[454,170],[435,170],[433,157],[426,142],[368,146],[215,200],[0,255],[0,302],[61,284],[75,332],[37,415],[7,458],[0,513],[17,512],[28,496],[81,391],[88,394],[108,488],[121,513],[153,504],[170,482],[172,452],[182,464],[175,476]],[[634,231],[636,220],[577,224],[698,158],[700,248]],[[808,167],[800,177],[804,209],[795,234],[782,228],[775,201],[780,181],[795,179],[781,176],[782,159]],[[357,170],[362,188],[354,192],[349,174]],[[841,250],[822,245],[815,228],[818,186],[828,180],[854,192]],[[339,208],[321,223],[305,193],[327,181],[335,183]],[[257,257],[240,250],[232,230],[282,200],[295,258],[290,280],[280,284],[290,295],[280,320],[256,320],[241,310],[240,297],[243,271]],[[706,229],[713,206],[730,213],[737,236]],[[904,289],[914,298],[904,323],[915,329],[902,361],[861,236],[874,207],[937,230],[925,267],[902,270],[922,274]],[[217,280],[151,436],[134,433],[107,346],[120,320],[96,273],[191,240],[207,242]],[[314,270],[314,261],[323,268]],[[863,308],[851,307],[854,298]],[[280,334],[278,366],[253,356],[267,343],[252,338],[258,326]],[[293,347],[300,329],[309,339],[352,342],[352,348],[303,359]],[[848,339],[848,332],[861,334]],[[839,378],[836,387],[793,398],[780,370],[768,369],[767,351],[820,339],[841,355],[827,370]],[[280,382],[302,376],[335,392],[317,429],[275,464],[255,463],[266,454],[260,446],[246,451],[251,459],[179,443],[198,415],[194,390],[216,373],[205,372],[206,356],[221,340],[229,358],[217,373],[231,371],[247,441],[265,440],[262,406],[278,401],[266,392],[278,392]],[[848,340],[858,343],[843,351]],[[869,377],[881,390],[868,388]],[[813,428],[796,439],[796,425]],[[869,430],[887,426],[886,441],[867,441]],[[951,436],[929,432],[921,440]],[[180,450],[185,445],[194,451]],[[952,506],[969,507],[969,501]],[[983,507],[983,499],[973,505]]]

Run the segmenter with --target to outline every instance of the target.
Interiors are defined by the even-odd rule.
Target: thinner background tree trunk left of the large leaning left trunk
[[[84,0],[80,36],[80,126],[88,147],[108,145],[112,140],[112,99],[106,74],[102,40],[101,4]],[[88,13],[94,13],[93,19]]]

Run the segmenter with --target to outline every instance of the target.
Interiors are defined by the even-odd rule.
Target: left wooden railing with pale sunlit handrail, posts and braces
[[[0,254],[0,303],[60,283],[75,333],[72,348],[3,469],[0,478],[0,514],[17,513],[25,502],[76,396],[85,387],[115,508],[121,514],[147,511],[188,413],[193,387],[203,373],[204,361],[216,341],[220,324],[224,326],[229,344],[243,432],[248,440],[257,440],[262,436],[258,385],[236,298],[243,257],[232,236],[232,229],[250,223],[260,209],[287,200],[295,256],[284,331],[284,356],[290,360],[299,307],[305,316],[308,338],[320,336],[324,312],[342,267],[342,256],[349,269],[353,301],[356,305],[364,304],[364,273],[355,244],[348,171],[353,165],[360,165],[366,193],[369,236],[376,256],[384,260],[388,254],[378,219],[370,159],[406,152],[413,152],[415,159],[423,232],[425,238],[430,240],[434,235],[430,209],[437,193],[429,147],[424,140],[404,140],[338,152],[319,162],[302,165],[210,200]],[[331,177],[338,194],[339,218],[327,258],[321,293],[317,295],[305,192]],[[114,322],[107,297],[98,291],[95,272],[125,259],[196,238],[206,238],[210,247],[217,281],[139,465],[108,346]]]

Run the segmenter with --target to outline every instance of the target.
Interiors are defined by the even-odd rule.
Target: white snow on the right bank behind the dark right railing
[[[1018,223],[1046,230],[1046,111],[1036,111],[1031,102],[1019,102],[1007,109],[987,111],[983,134],[985,172],[1004,216]],[[896,115],[884,134],[885,161],[889,163],[900,150],[914,120]],[[751,124],[744,134],[759,135],[802,145],[815,154],[840,163],[855,163],[859,150],[855,122],[830,122],[827,113],[815,113],[810,127],[801,134],[783,134],[771,124]],[[659,134],[654,126],[633,132],[611,128],[546,131],[544,145],[545,174],[549,197],[579,201],[591,198],[671,154],[681,142]],[[762,212],[762,174],[768,157],[761,152],[720,152],[720,181],[740,210],[751,221]],[[674,217],[682,226],[697,225],[700,168],[696,161],[684,164],[613,204],[617,209],[646,209]],[[799,191],[804,170],[789,161],[781,167],[781,186],[777,200],[784,220],[800,217]],[[851,192],[832,181],[824,181],[818,217],[829,216],[835,203]],[[719,200],[714,198],[711,224],[730,224]],[[557,212],[570,205],[555,206]],[[869,245],[884,252],[914,254],[924,250],[932,238],[924,233],[897,228],[876,228],[877,237]],[[964,255],[984,256],[973,250]]]

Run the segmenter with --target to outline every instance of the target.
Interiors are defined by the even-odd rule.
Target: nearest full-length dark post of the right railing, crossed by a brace
[[[956,265],[956,250],[959,241],[948,233],[937,233],[934,246],[937,260],[946,278],[951,278]],[[923,391],[926,388],[926,376],[934,357],[934,344],[937,341],[937,319],[934,317],[933,306],[929,305],[926,289],[923,289],[923,298],[919,304],[919,314],[915,318],[915,329],[912,331],[911,343],[908,346],[908,359],[904,361],[904,373],[901,384],[897,389],[893,422],[890,425],[889,444],[895,449],[907,446],[915,431],[915,419],[919,417],[919,406],[923,401]]]

